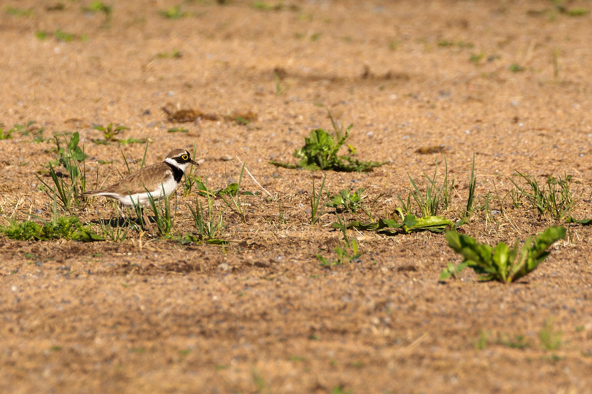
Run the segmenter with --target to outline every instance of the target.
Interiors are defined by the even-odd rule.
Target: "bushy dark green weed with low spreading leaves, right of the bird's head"
[[[323,129],[310,132],[308,138],[304,138],[304,146],[294,152],[294,157],[299,158],[298,164],[289,164],[278,161],[270,161],[271,164],[284,168],[303,168],[304,170],[332,170],[344,172],[372,171],[375,167],[384,164],[384,161],[360,161],[354,158],[355,149],[349,145],[349,155],[338,155],[339,149],[348,139],[353,125],[349,125],[345,133],[337,126],[337,123],[329,115],[333,123],[335,138]]]

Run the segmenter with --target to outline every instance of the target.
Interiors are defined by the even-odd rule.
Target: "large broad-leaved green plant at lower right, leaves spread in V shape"
[[[453,230],[446,231],[448,246],[463,256],[462,263],[472,268],[480,276],[481,281],[503,283],[515,282],[534,271],[551,253],[547,250],[549,246],[564,237],[564,227],[549,227],[536,237],[527,237],[522,248],[519,247],[519,240],[516,240],[513,248],[509,248],[503,242],[491,248],[489,245],[477,243],[470,236]],[[447,270],[450,272],[450,268],[445,269]],[[456,272],[458,271],[457,267]],[[445,272],[440,278],[442,276],[445,276]]]

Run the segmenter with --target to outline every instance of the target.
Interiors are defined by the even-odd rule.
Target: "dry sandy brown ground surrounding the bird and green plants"
[[[101,8],[107,5],[110,9]],[[177,7],[178,8],[175,8]],[[442,233],[356,232],[361,258],[336,259],[327,208],[310,224],[313,180],[279,168],[311,130],[343,126],[372,172],[326,172],[331,194],[363,188],[393,217],[413,177],[455,190],[459,219],[475,155],[477,209],[462,226],[494,245],[561,224],[527,201],[516,171],[572,176],[572,216],[592,217],[590,1],[2,1],[0,214],[49,220],[40,181],[56,140],[79,132],[89,188],[195,144],[210,188],[246,174],[244,221],[225,209],[222,247],[173,199],[170,239],[17,241],[0,236],[4,393],[590,393],[592,227],[519,282],[479,282]],[[93,11],[94,10],[94,11]],[[107,12],[108,11],[108,12]],[[173,18],[166,18],[166,14]],[[178,18],[174,18],[178,17]],[[170,121],[185,110],[187,119]],[[173,119],[174,120],[174,119]],[[34,123],[30,123],[34,121]],[[179,122],[185,121],[185,122]],[[247,124],[244,124],[247,123]],[[20,127],[15,125],[21,125]],[[179,128],[182,131],[169,132]],[[343,147],[342,154],[347,153]],[[323,200],[324,201],[324,200]],[[414,208],[415,210],[416,208]],[[115,204],[72,211],[101,233]],[[345,220],[365,215],[340,214]]]

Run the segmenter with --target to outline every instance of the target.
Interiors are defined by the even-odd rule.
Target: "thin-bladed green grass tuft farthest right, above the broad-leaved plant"
[[[512,183],[520,191],[520,194],[525,197],[526,201],[532,204],[540,214],[548,214],[555,220],[563,220],[569,216],[577,201],[570,187],[571,175],[564,175],[564,178],[547,175],[546,187],[545,185],[540,187],[533,175],[516,172],[526,181],[530,190],[516,184],[514,180],[511,180]]]

